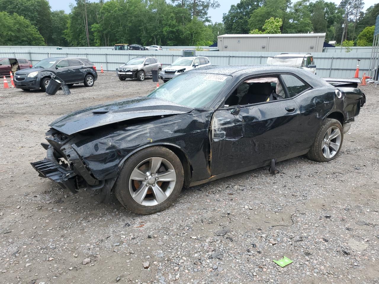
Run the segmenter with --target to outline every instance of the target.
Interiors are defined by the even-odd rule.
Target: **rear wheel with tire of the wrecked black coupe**
[[[338,131],[339,135],[336,136]],[[329,139],[330,136],[334,138]],[[336,119],[325,119],[316,134],[315,142],[306,156],[312,161],[328,162],[335,159],[340,153],[342,142],[343,128],[341,123]]]

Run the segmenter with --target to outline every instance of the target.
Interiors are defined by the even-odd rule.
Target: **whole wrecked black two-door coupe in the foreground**
[[[336,83],[336,82],[334,82]],[[346,82],[345,82],[346,83]],[[364,103],[300,68],[218,66],[184,72],[147,97],[61,117],[46,133],[40,176],[77,192],[111,190],[139,214],[161,211],[183,186],[300,155],[335,159]]]

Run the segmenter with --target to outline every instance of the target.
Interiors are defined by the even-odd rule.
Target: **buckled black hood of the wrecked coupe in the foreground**
[[[193,108],[177,105],[171,101],[137,97],[81,109],[53,121],[49,126],[64,134],[71,135],[125,120],[184,114],[192,110]]]

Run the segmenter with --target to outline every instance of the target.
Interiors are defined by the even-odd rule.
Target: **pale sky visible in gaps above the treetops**
[[[329,0],[337,5],[340,4],[340,0]],[[363,11],[372,5],[375,5],[378,0],[363,0],[365,2],[365,6]],[[69,4],[75,3],[75,1],[62,1],[62,0],[49,0],[50,6],[53,10],[64,10],[67,13],[70,12]],[[171,2],[167,0],[167,2]],[[208,15],[211,17],[212,22],[222,22],[222,14],[227,13],[229,11],[230,5],[237,4],[240,0],[218,0],[220,3],[220,8],[210,9]],[[294,1],[293,1],[294,2]]]

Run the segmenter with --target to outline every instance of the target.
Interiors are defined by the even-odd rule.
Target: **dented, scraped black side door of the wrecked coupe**
[[[244,105],[238,114],[233,107],[218,109],[211,123],[211,174],[242,172],[268,165],[271,159],[290,158],[296,152],[299,117],[290,97]]]

